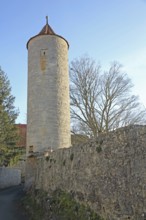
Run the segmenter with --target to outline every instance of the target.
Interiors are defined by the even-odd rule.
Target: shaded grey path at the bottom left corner
[[[22,186],[0,190],[0,220],[29,220],[20,207],[22,197]]]

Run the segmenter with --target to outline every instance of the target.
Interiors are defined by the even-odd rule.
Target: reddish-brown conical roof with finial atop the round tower
[[[60,38],[62,38],[62,39],[64,39],[64,40],[66,41],[66,43],[67,43],[67,45],[68,45],[68,47],[69,47],[69,44],[68,44],[67,40],[66,40],[65,38],[63,38],[62,36],[56,34],[56,33],[54,32],[54,30],[51,28],[51,26],[48,24],[48,17],[47,17],[47,16],[46,16],[46,25],[42,28],[42,30],[39,32],[39,34],[35,35],[34,37],[31,37],[31,38],[28,40],[26,47],[28,48],[28,44],[29,44],[29,42],[30,42],[33,38],[36,38],[36,37],[38,37],[38,36],[40,36],[40,35],[55,35],[55,36],[57,36],[57,37],[60,37]]]

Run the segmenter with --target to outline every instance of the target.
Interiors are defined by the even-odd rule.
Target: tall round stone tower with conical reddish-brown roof
[[[68,42],[48,24],[28,49],[27,154],[70,143]]]

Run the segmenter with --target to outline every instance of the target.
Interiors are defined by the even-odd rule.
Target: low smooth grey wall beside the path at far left
[[[14,168],[0,168],[0,189],[21,183],[21,171]]]

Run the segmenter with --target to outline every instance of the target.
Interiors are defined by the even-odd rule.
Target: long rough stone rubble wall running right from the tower
[[[36,162],[36,188],[71,192],[106,220],[145,219],[146,126],[121,128]]]

